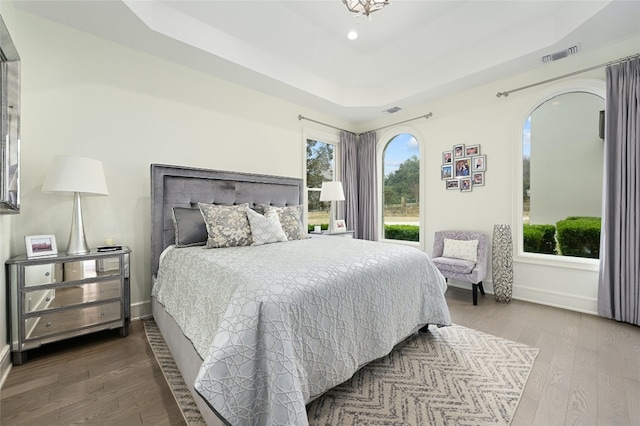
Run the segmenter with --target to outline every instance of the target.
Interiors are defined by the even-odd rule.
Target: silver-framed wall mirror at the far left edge
[[[20,56],[0,17],[0,214],[20,212]]]

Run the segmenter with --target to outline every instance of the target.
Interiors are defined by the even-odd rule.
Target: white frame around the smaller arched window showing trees
[[[382,178],[382,173],[384,170],[384,164],[383,164],[383,159],[384,159],[384,151],[387,147],[387,145],[389,144],[389,142],[391,142],[391,140],[393,138],[395,138],[396,136],[400,135],[400,134],[410,134],[411,136],[413,136],[416,141],[418,141],[418,146],[420,148],[420,155],[418,156],[418,159],[420,160],[420,178],[419,178],[419,183],[420,183],[420,188],[419,188],[419,193],[420,193],[420,212],[418,214],[419,217],[419,226],[420,226],[420,233],[419,233],[419,241],[404,241],[404,240],[392,240],[392,239],[387,239],[384,238],[384,218],[383,218],[383,211],[384,211],[384,206],[383,206],[383,195],[384,195],[384,179]],[[420,134],[420,132],[415,128],[415,127],[411,127],[411,126],[393,126],[390,127],[388,129],[385,130],[384,133],[381,133],[379,135],[376,135],[376,167],[377,167],[377,191],[378,191],[378,241],[383,242],[383,243],[391,243],[391,244],[401,244],[401,245],[407,245],[407,246],[411,246],[411,247],[418,247],[421,250],[424,250],[425,248],[425,226],[424,224],[426,223],[425,221],[425,209],[423,208],[423,202],[424,200],[426,200],[426,196],[424,194],[425,191],[425,155],[426,155],[426,149],[425,149],[425,144],[424,144],[424,139],[422,137],[422,135]]]

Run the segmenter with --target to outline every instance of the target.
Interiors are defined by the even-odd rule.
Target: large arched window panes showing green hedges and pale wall
[[[597,259],[604,164],[604,99],[556,93],[522,128],[523,254]]]

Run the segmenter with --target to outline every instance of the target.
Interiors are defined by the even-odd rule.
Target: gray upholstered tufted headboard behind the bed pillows
[[[158,272],[160,254],[175,243],[172,209],[198,203],[289,206],[304,202],[302,179],[151,165],[151,275]]]

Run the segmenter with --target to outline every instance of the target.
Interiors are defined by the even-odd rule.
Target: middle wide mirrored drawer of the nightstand
[[[30,313],[115,299],[121,296],[122,285],[120,278],[118,278],[69,287],[27,291],[23,294],[23,306],[24,313]]]

